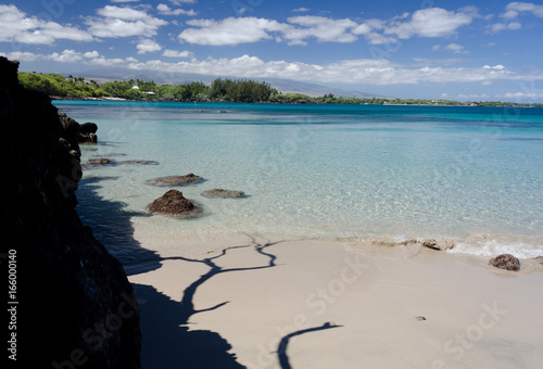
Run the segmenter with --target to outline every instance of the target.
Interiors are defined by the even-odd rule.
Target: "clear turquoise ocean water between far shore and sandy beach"
[[[138,227],[179,239],[432,237],[457,239],[456,252],[543,255],[542,109],[54,104],[99,126],[100,142],[84,147],[83,162],[159,162],[85,168],[78,212],[110,247],[123,245],[118,227],[138,218]],[[167,189],[146,180],[189,173],[206,181],[178,189],[204,213],[151,216],[147,205]],[[201,195],[213,188],[249,196]]]

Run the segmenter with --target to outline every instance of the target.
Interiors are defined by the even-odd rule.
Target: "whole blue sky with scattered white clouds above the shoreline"
[[[543,102],[535,2],[17,0],[0,2],[0,55],[22,71],[124,67]]]

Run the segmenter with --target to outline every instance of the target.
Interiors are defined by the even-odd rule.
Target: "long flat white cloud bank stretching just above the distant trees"
[[[515,73],[504,66],[484,67],[406,67],[388,60],[343,60],[324,65],[301,62],[268,61],[243,55],[235,59],[191,60],[189,62],[132,63],[134,69],[198,73],[213,76],[239,76],[243,78],[287,78],[303,81],[364,85],[419,85],[446,82],[491,84],[504,80],[543,80],[538,71],[530,74]]]

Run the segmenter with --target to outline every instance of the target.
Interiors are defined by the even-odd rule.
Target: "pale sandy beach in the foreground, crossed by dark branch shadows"
[[[543,360],[535,260],[513,272],[420,244],[245,234],[162,246],[159,269],[129,278],[143,368],[540,368]]]

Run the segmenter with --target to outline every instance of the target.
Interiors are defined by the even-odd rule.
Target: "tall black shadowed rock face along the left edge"
[[[79,127],[22,88],[17,66],[0,58],[0,265],[8,276],[16,260],[18,302],[8,353],[21,367],[139,368],[134,290],[75,211]]]

